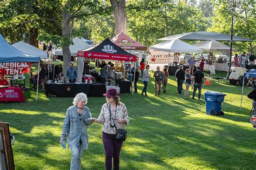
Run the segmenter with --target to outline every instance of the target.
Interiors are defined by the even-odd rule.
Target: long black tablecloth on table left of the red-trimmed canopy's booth
[[[91,94],[91,84],[47,84],[45,83],[46,95],[52,94],[57,97],[75,97],[77,93],[83,92],[87,96]]]

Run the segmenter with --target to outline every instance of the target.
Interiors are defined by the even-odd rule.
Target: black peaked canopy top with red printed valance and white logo
[[[102,43],[90,47],[89,49],[78,51],[78,57],[99,58],[104,60],[123,60],[136,62],[136,56],[124,51],[110,39],[105,39]]]

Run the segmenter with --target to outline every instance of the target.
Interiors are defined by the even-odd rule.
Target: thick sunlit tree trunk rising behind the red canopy
[[[126,34],[127,17],[125,0],[110,0],[114,7],[114,22],[116,23],[116,35],[120,32]]]

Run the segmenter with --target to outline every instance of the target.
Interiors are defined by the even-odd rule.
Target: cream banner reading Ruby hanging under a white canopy
[[[172,52],[164,52],[158,50],[149,50],[149,63],[150,64],[168,64],[173,63],[173,55]]]

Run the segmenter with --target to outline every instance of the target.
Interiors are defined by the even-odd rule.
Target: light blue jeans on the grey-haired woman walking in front
[[[80,143],[80,148],[77,147],[70,147],[72,151],[71,157],[71,170],[81,169],[81,161],[82,161],[82,154],[84,152],[83,145]]]

